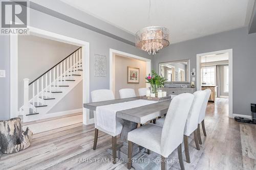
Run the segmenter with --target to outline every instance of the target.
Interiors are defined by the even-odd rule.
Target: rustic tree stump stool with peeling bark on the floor
[[[28,148],[32,142],[33,133],[23,131],[20,118],[0,121],[0,147],[4,154],[12,154]]]

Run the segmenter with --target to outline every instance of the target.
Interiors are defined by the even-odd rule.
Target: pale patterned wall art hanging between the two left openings
[[[106,77],[106,56],[94,55],[94,76]]]

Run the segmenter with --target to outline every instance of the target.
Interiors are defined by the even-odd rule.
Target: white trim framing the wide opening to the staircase
[[[79,39],[75,39],[72,37],[68,37],[65,35],[56,34],[53,32],[49,32],[46,30],[41,30],[38,28],[30,27],[29,32],[30,35],[35,35],[39,37],[48,38],[55,41],[60,41],[64,43],[69,43],[73,45],[81,46],[82,49],[82,63],[83,63],[83,103],[90,102],[90,43],[87,41],[82,41]],[[18,36],[12,36],[10,38],[10,107],[13,108],[11,110],[10,116],[17,117],[18,116],[18,77],[17,77],[17,70],[18,70]],[[88,109],[83,109],[83,124],[88,124],[89,120],[87,116],[90,114]]]

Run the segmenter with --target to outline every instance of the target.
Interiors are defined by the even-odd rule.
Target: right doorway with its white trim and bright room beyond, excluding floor
[[[209,102],[227,103],[232,113],[232,49],[197,55],[197,89],[211,89]]]

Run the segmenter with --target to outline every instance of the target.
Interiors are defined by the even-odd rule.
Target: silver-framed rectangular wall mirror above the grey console
[[[166,83],[189,83],[190,60],[159,63],[159,72],[167,79]]]

